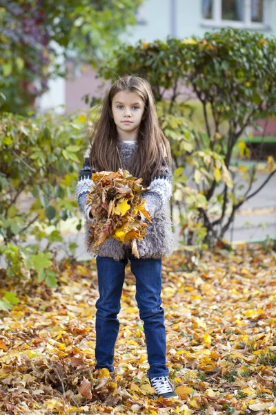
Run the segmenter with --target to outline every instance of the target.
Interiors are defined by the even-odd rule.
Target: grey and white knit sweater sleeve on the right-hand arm
[[[162,162],[165,172],[159,172],[150,180],[150,189],[145,190],[141,199],[146,200],[145,208],[154,218],[155,213],[170,201],[172,196],[172,172],[165,161]],[[141,215],[144,220],[144,215]]]

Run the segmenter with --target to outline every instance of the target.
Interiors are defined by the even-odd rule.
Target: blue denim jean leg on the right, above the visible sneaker
[[[139,315],[144,321],[148,352],[148,378],[168,376],[166,366],[166,326],[161,307],[161,259],[137,259],[130,255],[130,269],[136,278]]]

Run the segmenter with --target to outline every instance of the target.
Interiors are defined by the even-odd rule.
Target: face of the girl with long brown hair
[[[112,99],[112,116],[118,133],[132,133],[139,129],[145,104],[136,92],[120,91]]]

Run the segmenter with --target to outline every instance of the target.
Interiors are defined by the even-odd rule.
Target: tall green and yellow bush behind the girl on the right
[[[246,142],[241,140],[248,127],[259,127],[260,118],[272,119],[276,114],[275,51],[275,37],[222,28],[202,38],[168,37],[165,42],[126,45],[117,50],[109,65],[99,69],[106,79],[115,80],[127,72],[145,77],[152,85],[160,121],[165,127],[166,123],[170,125],[165,133],[170,138],[175,166],[182,169],[175,177],[176,197],[172,203],[179,206],[185,243],[197,243],[199,229],[200,238],[205,233],[204,243],[210,246],[219,241],[230,248],[222,238],[235,212],[276,172],[273,157],[269,156],[268,177],[252,192],[255,166],[230,164],[236,143],[240,158],[250,155]],[[200,116],[197,112],[195,117],[193,104],[181,100],[184,85],[190,87],[201,106],[204,128],[202,122],[195,123]],[[232,181],[226,179],[226,172],[230,172]],[[239,183],[241,174],[246,187]],[[193,181],[190,187],[188,177]],[[204,196],[205,205],[195,205],[196,194],[200,200]],[[193,221],[189,219],[191,212]]]

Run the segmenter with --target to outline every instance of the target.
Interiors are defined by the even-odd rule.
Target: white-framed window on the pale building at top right
[[[202,24],[269,28],[270,0],[201,0]]]

